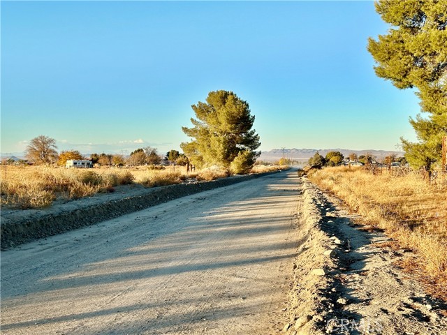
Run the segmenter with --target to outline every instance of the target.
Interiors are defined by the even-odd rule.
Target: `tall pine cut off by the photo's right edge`
[[[418,143],[402,140],[413,168],[432,170],[441,161],[447,133],[447,1],[381,0],[376,11],[393,26],[379,40],[369,38],[376,75],[399,89],[415,88],[427,117],[410,118]]]

